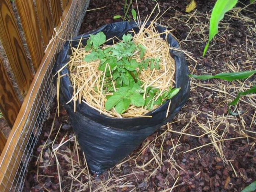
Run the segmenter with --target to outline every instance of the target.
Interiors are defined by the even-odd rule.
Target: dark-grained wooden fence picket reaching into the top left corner
[[[0,0],[0,39],[20,91],[25,95],[33,80],[33,74],[24,50],[10,0]]]

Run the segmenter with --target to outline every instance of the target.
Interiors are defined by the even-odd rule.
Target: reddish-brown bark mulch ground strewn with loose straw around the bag
[[[208,17],[210,10],[213,8],[215,1],[197,0],[197,11],[194,15],[185,12],[186,1],[179,0],[158,0],[161,12],[171,7],[161,18],[161,23],[174,29],[173,34],[180,41],[180,45],[186,53],[193,57],[197,63],[189,56],[187,57],[191,72],[195,74],[216,74],[218,72],[232,72],[232,70],[252,70],[256,69],[255,49],[256,44],[255,33],[255,11],[256,5],[249,5],[246,10],[237,13],[233,12],[224,17],[221,22],[220,32],[214,38],[209,46],[209,51],[205,57],[202,57],[205,41],[208,34]],[[114,21],[114,15],[123,15],[123,1],[119,0],[91,0],[88,9],[100,8],[96,11],[86,13],[84,22],[81,26],[81,33],[86,33],[97,29],[102,24]],[[237,9],[244,7],[247,1],[238,3]],[[150,14],[156,2],[151,0],[138,1],[141,18]],[[133,3],[136,7],[136,4]],[[237,11],[237,10],[235,10]],[[232,16],[233,15],[233,16]],[[254,31],[253,31],[254,30]],[[252,82],[252,83],[250,83]],[[250,87],[255,84],[255,75],[245,81]],[[138,147],[131,155],[129,161],[124,162],[119,168],[113,168],[109,172],[103,173],[99,178],[91,177],[91,191],[241,191],[252,181],[256,180],[256,147],[255,147],[255,97],[243,98],[244,102],[240,102],[237,109],[243,111],[240,116],[230,116],[227,114],[227,103],[234,99],[234,96],[241,87],[241,82],[225,82],[222,80],[198,81],[191,79],[191,95],[185,107],[176,115],[175,119],[167,126],[162,127],[158,132],[149,136],[144,143]],[[245,86],[246,87],[246,86]],[[232,97],[233,95],[233,97]],[[54,104],[54,106],[56,106]],[[43,162],[37,168],[35,165],[36,157],[41,152],[42,144],[45,143],[51,124],[54,118],[55,109],[52,109],[49,120],[45,123],[42,135],[38,142],[38,148],[35,151],[35,158],[31,162],[31,167],[26,178],[24,191],[60,191],[56,161],[52,160],[53,153],[51,147],[46,147],[43,153]],[[53,133],[48,142],[53,141],[59,126],[62,128],[57,137],[57,144],[74,136],[68,116],[64,109],[61,109],[60,117],[57,117],[54,123]],[[230,139],[223,142],[217,142],[218,146],[207,145],[212,142],[212,135],[205,134],[202,127],[209,130],[217,129],[216,133],[224,136],[223,139],[237,138],[246,136],[246,138]],[[186,130],[185,130],[186,129]],[[167,131],[166,131],[167,130]],[[246,132],[251,131],[250,133]],[[177,132],[184,132],[183,135]],[[156,139],[157,136],[163,134]],[[195,137],[193,135],[202,135]],[[249,136],[249,137],[248,137]],[[153,144],[147,146],[147,142],[153,141]],[[145,150],[138,155],[142,147]],[[161,147],[162,146],[162,147]],[[175,147],[175,148],[174,148]],[[194,149],[188,153],[187,150]],[[143,169],[140,165],[144,165],[153,158],[153,151],[159,152],[162,149],[161,159],[148,163]],[[67,143],[62,146],[62,151],[73,151],[74,142]],[[159,152],[160,153],[160,152]],[[173,153],[173,154],[172,154]],[[68,153],[67,153],[68,154]],[[79,152],[82,158],[81,151]],[[134,158],[132,158],[135,156]],[[137,157],[137,159],[136,159]],[[157,156],[159,157],[159,156]],[[77,155],[72,153],[72,158],[77,159]],[[127,158],[129,159],[129,158]],[[127,160],[125,159],[125,160]],[[224,159],[224,161],[223,161]],[[69,191],[71,177],[67,174],[72,170],[70,163],[64,156],[59,156],[62,177],[62,191]],[[158,166],[160,163],[160,166]],[[136,165],[137,164],[137,165]],[[81,169],[84,167],[81,167]],[[37,169],[40,175],[51,176],[37,179]],[[87,169],[85,169],[87,171]],[[85,171],[85,172],[86,172]],[[124,182],[129,183],[133,187],[113,187],[109,190],[99,190],[101,182],[105,187],[115,184],[115,180],[123,178]],[[110,178],[113,178],[112,180]],[[86,174],[81,174],[78,181],[82,183],[88,182]],[[74,189],[79,191],[79,182],[74,181]],[[105,181],[109,181],[105,184]],[[97,184],[98,183],[98,184]],[[103,184],[102,184],[103,185]],[[80,186],[81,187],[81,186]],[[75,190],[76,189],[76,190]],[[90,188],[83,188],[81,191],[90,191]],[[167,190],[168,189],[168,190]]]

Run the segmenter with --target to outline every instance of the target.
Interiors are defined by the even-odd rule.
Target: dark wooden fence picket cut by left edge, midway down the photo
[[[21,103],[0,58],[0,110],[10,127],[14,124],[20,107]]]

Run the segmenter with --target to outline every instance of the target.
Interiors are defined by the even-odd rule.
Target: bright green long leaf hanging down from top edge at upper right
[[[209,40],[204,47],[203,56],[205,55],[208,49],[210,41],[218,33],[219,22],[223,19],[224,14],[227,11],[231,10],[236,3],[237,0],[217,0],[217,2],[215,3],[210,19]]]

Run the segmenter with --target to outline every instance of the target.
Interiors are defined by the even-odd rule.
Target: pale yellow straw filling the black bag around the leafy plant
[[[164,32],[164,34],[169,31]],[[114,40],[112,39],[113,43]],[[146,58],[160,58],[160,70],[146,69],[142,70],[139,79],[143,82],[142,89],[146,90],[147,87],[153,87],[160,89],[160,94],[163,94],[165,90],[168,90],[175,83],[175,61],[169,55],[169,44],[165,39],[161,38],[152,23],[149,27],[145,28],[141,26],[141,30],[135,34],[133,41],[136,45],[142,44],[146,48],[145,55],[142,59]],[[104,45],[101,48],[107,48],[109,45]],[[84,46],[79,44],[77,48],[73,48],[73,54],[70,56],[69,70],[70,78],[74,87],[74,95],[71,100],[79,100],[79,102],[85,102],[93,109],[98,110],[100,113],[111,117],[136,117],[143,116],[150,110],[143,107],[136,107],[131,105],[126,112],[118,114],[114,109],[108,111],[104,108],[106,97],[111,95],[111,92],[102,93],[103,83],[105,83],[105,72],[98,70],[100,60],[91,62],[84,61],[84,57],[88,55],[90,51],[85,51]],[[135,52],[132,56],[137,62],[141,62],[140,52]],[[109,66],[109,65],[107,65]],[[103,82],[103,83],[102,83]],[[109,85],[115,89],[115,82]],[[144,99],[146,95],[144,93]],[[155,98],[155,100],[158,97]],[[71,101],[70,100],[70,101]],[[155,105],[157,108],[159,105]]]

